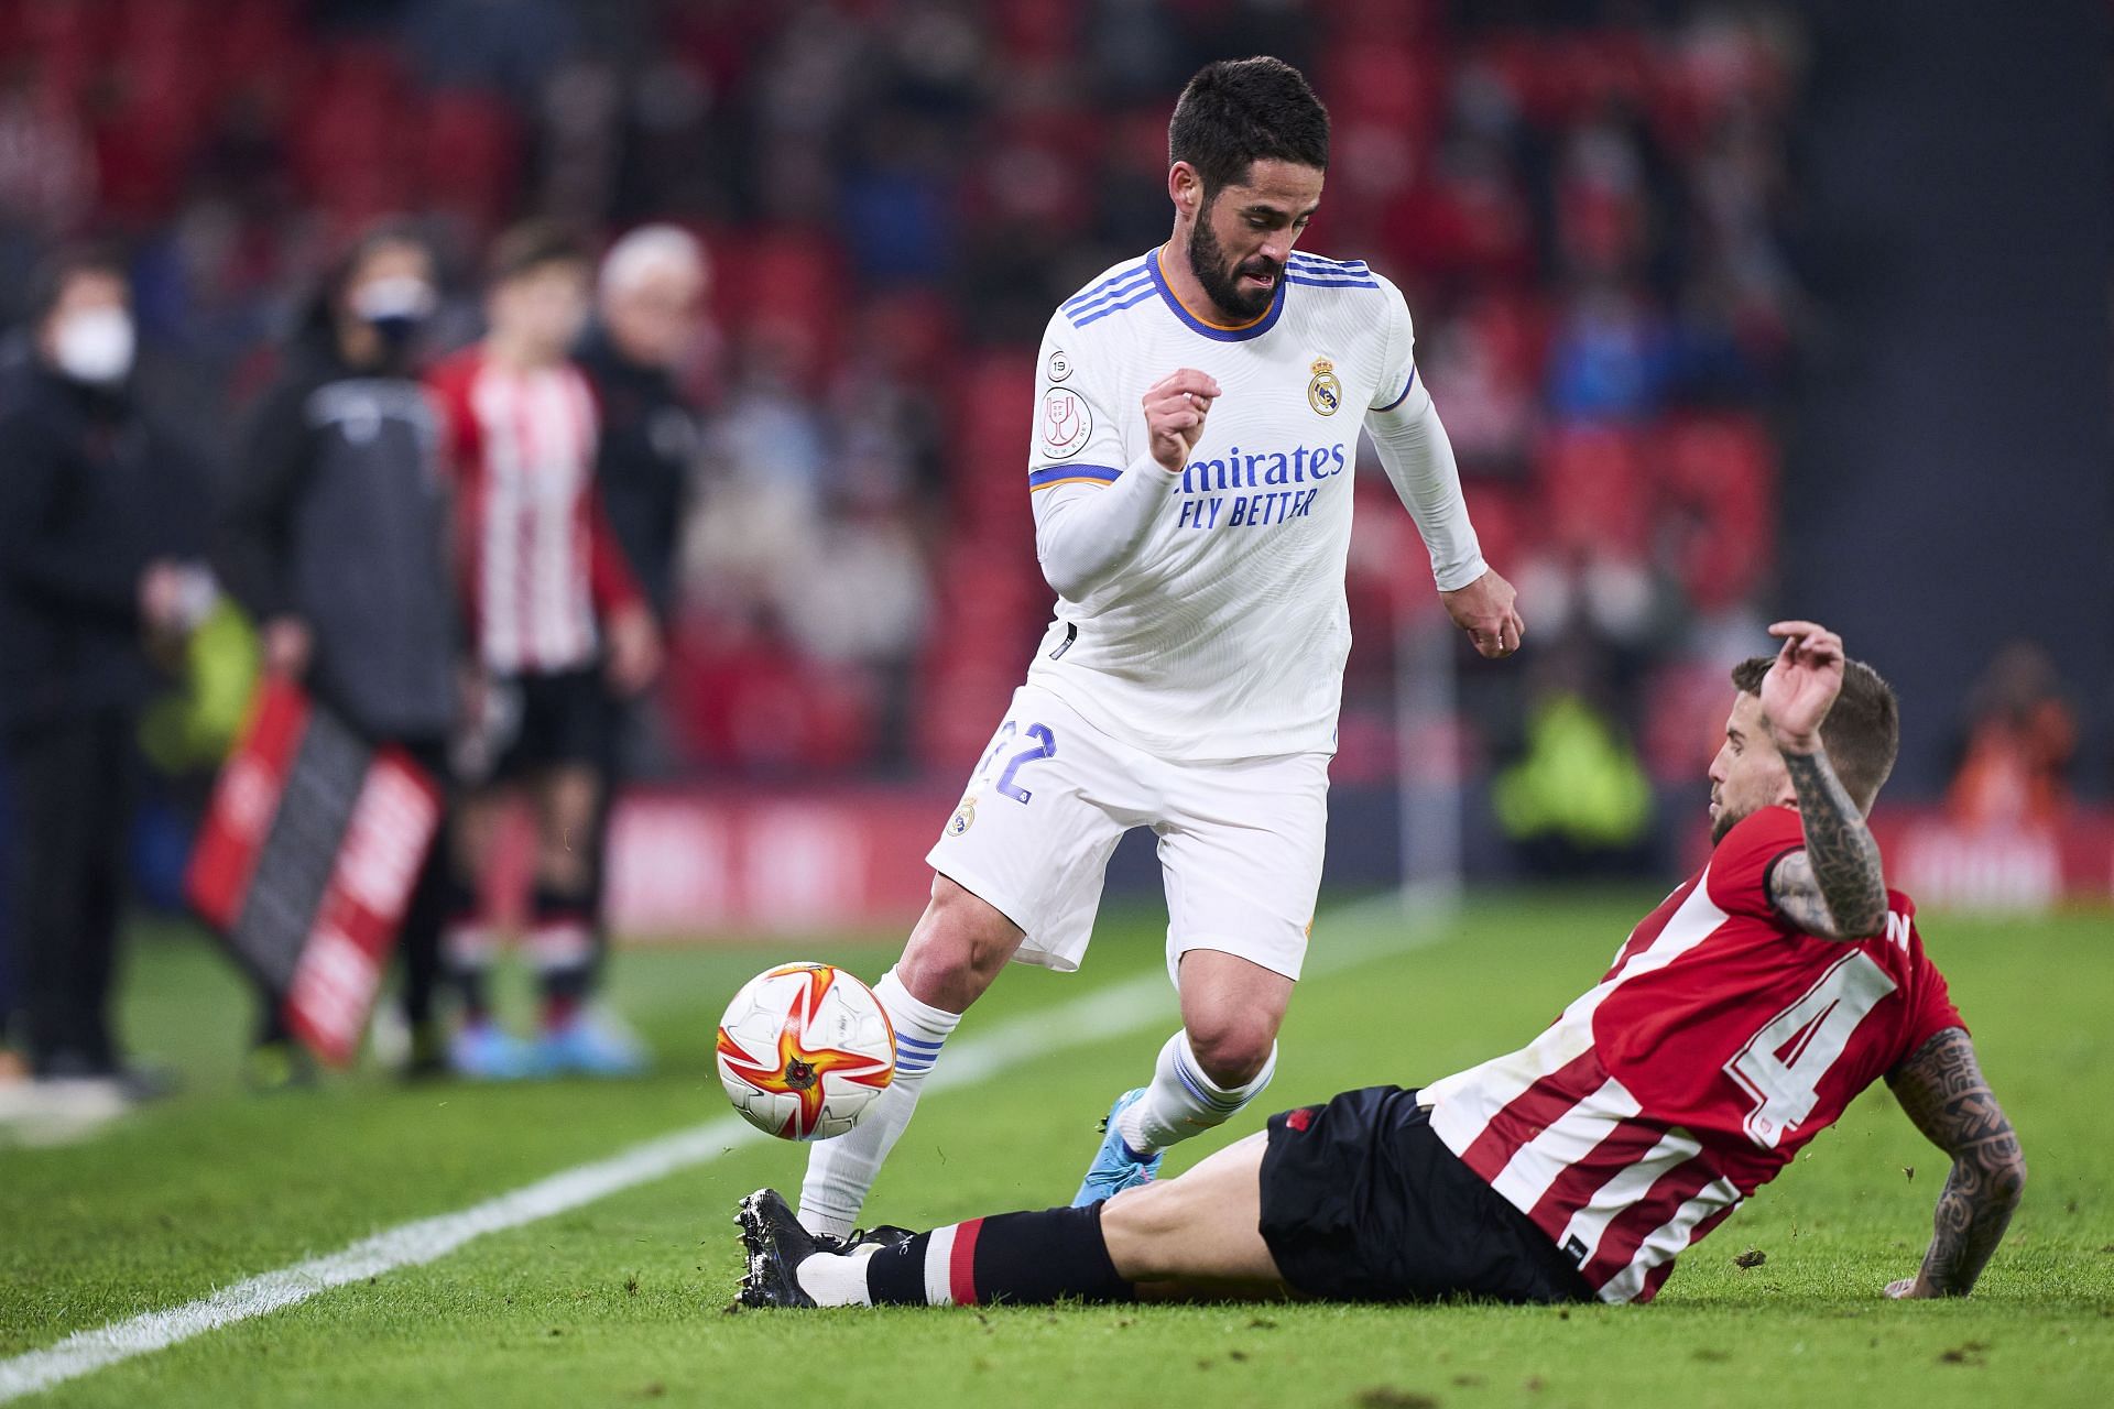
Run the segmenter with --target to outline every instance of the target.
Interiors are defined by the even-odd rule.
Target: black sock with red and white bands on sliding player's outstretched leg
[[[945,1265],[926,1263],[945,1257]],[[1101,1204],[1000,1213],[917,1234],[867,1263],[873,1305],[1044,1305],[1059,1297],[1129,1301],[1101,1238]]]

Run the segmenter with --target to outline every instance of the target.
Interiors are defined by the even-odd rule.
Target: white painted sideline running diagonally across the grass
[[[1378,919],[1380,910],[1357,906],[1338,915],[1355,915],[1359,921],[1368,921]],[[1440,929],[1418,927],[1408,921],[1399,923],[1402,929],[1393,936],[1383,934],[1383,938],[1364,944],[1323,948],[1317,961],[1306,965],[1309,976],[1334,974],[1368,959],[1421,948],[1442,938]],[[1129,1033],[1152,1018],[1165,1016],[1173,1008],[1171,997],[1167,980],[1154,972],[1139,974],[1112,989],[1087,993],[1059,1008],[1021,1014],[983,1037],[949,1050],[947,1063],[934,1067],[926,1079],[926,1090],[975,1086],[1038,1056]],[[163,1312],[144,1312],[131,1320],[116,1320],[95,1331],[76,1331],[44,1350],[30,1350],[13,1360],[0,1360],[0,1403],[49,1390],[55,1384],[78,1379],[118,1360],[167,1350],[178,1341],[188,1341],[194,1335],[237,1320],[298,1305],[332,1286],[435,1261],[471,1238],[569,1213],[611,1194],[653,1183],[676,1170],[710,1164],[719,1156],[731,1153],[736,1145],[763,1139],[763,1132],[742,1117],[723,1115],[689,1130],[676,1130],[674,1134],[632,1145],[607,1160],[560,1170],[550,1179],[539,1179],[533,1185],[501,1194],[459,1213],[400,1223],[372,1238],[361,1238],[338,1248],[328,1257],[311,1257],[304,1263],[254,1276],[209,1297],[199,1297],[197,1301],[186,1301]]]

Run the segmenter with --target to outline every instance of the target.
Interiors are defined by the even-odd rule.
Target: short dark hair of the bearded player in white
[[[1258,161],[1328,171],[1328,108],[1283,59],[1205,63],[1167,123],[1167,163],[1186,161],[1209,201]]]

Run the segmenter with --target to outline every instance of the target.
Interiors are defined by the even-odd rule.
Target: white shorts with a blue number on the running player
[[[1328,763],[1323,752],[1169,763],[1023,684],[926,860],[1021,927],[1021,961],[1072,972],[1108,856],[1150,826],[1177,982],[1190,948],[1298,978],[1321,889]]]

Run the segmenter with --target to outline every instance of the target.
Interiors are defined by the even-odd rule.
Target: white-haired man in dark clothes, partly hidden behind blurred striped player
[[[710,279],[704,245],[666,224],[641,226],[602,256],[594,321],[573,357],[602,416],[596,486],[624,560],[662,625],[674,606],[679,534],[698,458],[698,418],[676,370],[698,342]],[[615,695],[602,735],[602,805],[594,843],[594,961],[609,951],[605,875],[609,813],[638,750],[638,716]]]

